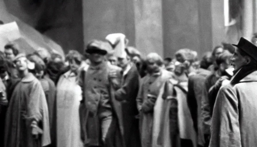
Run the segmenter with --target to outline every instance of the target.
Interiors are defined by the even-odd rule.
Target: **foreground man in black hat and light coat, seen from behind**
[[[257,146],[257,47],[245,38],[233,46],[234,76],[217,94],[209,147]]]

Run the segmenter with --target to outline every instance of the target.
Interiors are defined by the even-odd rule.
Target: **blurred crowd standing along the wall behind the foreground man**
[[[221,43],[201,59],[191,49],[165,59],[143,57],[120,33],[90,41],[83,55],[70,50],[65,57],[44,48],[25,54],[10,42],[0,52],[0,146],[251,146],[251,135],[241,132],[246,143],[235,135],[248,118],[236,117],[244,106],[216,103],[240,95],[220,92],[237,71],[244,75],[239,83],[257,70],[244,69],[256,65],[254,42],[256,36],[238,45]]]

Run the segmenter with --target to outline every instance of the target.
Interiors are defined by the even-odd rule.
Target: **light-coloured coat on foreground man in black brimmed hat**
[[[257,146],[257,71],[222,86],[212,117],[210,147]]]

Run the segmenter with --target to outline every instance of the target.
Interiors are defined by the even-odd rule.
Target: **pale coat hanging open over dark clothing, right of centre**
[[[187,81],[178,82],[170,79],[166,85],[168,88],[165,88],[163,92],[166,103],[163,105],[161,116],[164,125],[161,127],[158,142],[163,147],[180,145],[196,147],[196,131],[186,100],[188,83]],[[180,142],[178,141],[177,130]]]

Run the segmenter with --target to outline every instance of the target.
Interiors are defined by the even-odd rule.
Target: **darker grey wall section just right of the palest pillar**
[[[201,54],[197,1],[163,0],[162,6],[165,57],[174,57],[174,53],[182,48]]]

